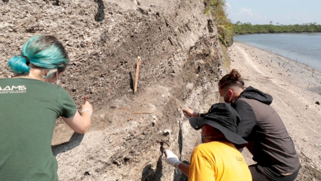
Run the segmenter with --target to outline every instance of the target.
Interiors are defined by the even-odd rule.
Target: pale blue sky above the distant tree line
[[[226,0],[232,23],[321,24],[321,0]]]

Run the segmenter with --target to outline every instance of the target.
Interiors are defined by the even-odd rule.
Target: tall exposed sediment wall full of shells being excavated
[[[200,143],[175,99],[203,112],[218,100],[222,50],[204,10],[203,0],[0,1],[0,78],[24,42],[51,34],[70,57],[61,86],[94,107],[85,135],[57,122],[60,180],[186,180],[161,157],[169,148],[189,160]]]

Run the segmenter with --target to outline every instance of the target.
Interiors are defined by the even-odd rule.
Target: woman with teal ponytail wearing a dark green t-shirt
[[[61,117],[83,134],[91,122],[86,101],[81,114],[60,86],[68,55],[48,35],[33,36],[21,56],[8,61],[12,78],[0,79],[0,180],[57,181],[58,164],[51,151],[56,120]]]

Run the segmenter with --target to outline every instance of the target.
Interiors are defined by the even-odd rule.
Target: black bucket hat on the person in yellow
[[[240,121],[239,114],[226,103],[213,104],[204,117],[188,118],[188,120],[195,130],[201,129],[205,124],[220,130],[236,148],[244,148],[247,145],[247,141],[236,134],[236,127]]]

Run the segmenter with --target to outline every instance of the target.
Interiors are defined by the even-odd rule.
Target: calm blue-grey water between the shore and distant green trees
[[[321,70],[321,33],[276,33],[234,36],[234,41],[308,63]]]

